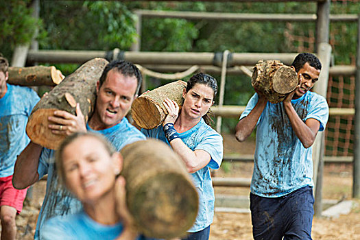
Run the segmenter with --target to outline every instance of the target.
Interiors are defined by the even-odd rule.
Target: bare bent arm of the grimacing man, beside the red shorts
[[[16,159],[12,184],[15,189],[25,189],[38,181],[38,160],[43,147],[30,142]]]

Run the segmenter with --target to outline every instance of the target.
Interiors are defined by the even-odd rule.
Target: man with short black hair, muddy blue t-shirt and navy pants
[[[298,87],[277,104],[255,89],[236,127],[237,140],[244,141],[257,125],[250,187],[254,239],[311,239],[311,145],[325,128],[328,104],[309,91],[319,79],[320,60],[300,53],[291,65]]]

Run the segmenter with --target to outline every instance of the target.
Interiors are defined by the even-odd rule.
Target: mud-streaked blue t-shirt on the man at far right
[[[259,96],[255,93],[240,119],[248,116]],[[316,119],[323,131],[328,121],[324,97],[308,91],[291,104],[302,121]],[[267,102],[256,130],[254,172],[250,190],[261,197],[281,197],[301,187],[313,187],[312,147],[304,148],[296,136],[283,102]]]

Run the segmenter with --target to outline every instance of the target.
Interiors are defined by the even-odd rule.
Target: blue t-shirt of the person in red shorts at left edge
[[[31,88],[6,86],[8,91],[0,98],[0,178],[14,173],[16,158],[30,141],[27,119],[40,99]]]

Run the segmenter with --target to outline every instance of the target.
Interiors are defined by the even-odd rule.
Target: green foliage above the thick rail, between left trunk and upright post
[[[42,1],[41,16],[49,33],[43,49],[130,49],[136,18],[117,1]]]

